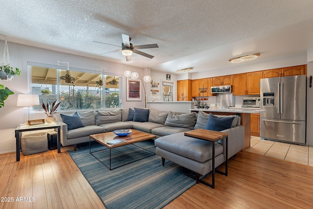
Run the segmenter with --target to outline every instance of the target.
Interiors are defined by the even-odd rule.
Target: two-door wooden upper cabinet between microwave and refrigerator
[[[233,75],[233,95],[259,95],[262,71]]]

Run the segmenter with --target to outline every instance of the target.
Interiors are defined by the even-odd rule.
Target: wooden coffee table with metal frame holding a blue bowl
[[[129,135],[127,136],[124,136],[124,137],[119,137],[117,136],[116,134],[114,134],[113,132],[107,132],[107,133],[101,133],[101,134],[93,134],[93,135],[90,135],[89,136],[89,153],[95,158],[97,159],[100,163],[104,164],[107,168],[109,168],[110,170],[114,169],[114,168],[111,168],[111,149],[112,148],[116,148],[116,147],[120,147],[120,146],[125,146],[125,145],[128,145],[128,144],[133,144],[136,143],[136,142],[139,142],[139,141],[145,141],[145,140],[148,140],[148,139],[155,139],[156,138],[156,135],[152,135],[152,134],[148,134],[148,133],[145,133],[145,132],[141,132],[141,131],[136,131],[134,129],[130,129],[132,130],[132,133],[130,133]],[[99,151],[102,151],[102,150],[98,150],[98,151],[94,151],[94,152],[91,152],[91,139],[97,141],[98,143],[106,146],[107,148],[109,148],[109,151],[110,151],[110,165],[107,166],[105,163],[103,163],[102,161],[100,161],[96,156],[94,156],[92,153],[94,152],[99,152]],[[113,139],[125,139],[127,140],[127,142],[123,142],[123,143],[120,143],[120,144],[115,144],[115,145],[111,145],[111,144],[107,144],[108,141],[111,141]],[[136,146],[136,145],[134,145]],[[141,149],[144,149],[142,147],[140,147]],[[104,149],[103,149],[104,150]],[[146,150],[146,149],[145,149]],[[147,150],[149,151],[149,150]],[[150,152],[150,151],[149,151]],[[143,158],[139,159],[139,160],[142,160]],[[134,162],[132,162],[134,163]],[[122,166],[122,165],[121,165]],[[118,166],[120,167],[120,166]],[[117,167],[115,167],[117,168]]]

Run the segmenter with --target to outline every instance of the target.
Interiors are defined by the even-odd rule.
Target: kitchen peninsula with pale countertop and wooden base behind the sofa
[[[244,109],[244,108],[214,108],[210,107],[209,109],[189,109],[191,112],[198,113],[199,111],[202,111],[204,113],[212,113],[214,115],[237,115],[240,116],[240,125],[243,125],[245,127],[245,143],[244,143],[244,149],[243,151],[246,151],[250,147],[250,114],[252,113],[261,113],[265,110],[260,109]]]

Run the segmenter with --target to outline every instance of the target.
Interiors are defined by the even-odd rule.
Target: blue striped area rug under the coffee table
[[[155,152],[153,141],[135,144]],[[90,155],[89,147],[69,151],[69,155],[107,209],[163,208],[196,184],[183,174],[185,168],[170,161],[165,161],[163,167],[160,156],[149,157],[152,153],[139,147],[130,144],[112,149],[112,167],[122,165],[112,170]],[[101,149],[104,146],[94,145],[91,151]],[[109,162],[109,150],[96,154],[105,164]],[[142,157],[146,158],[138,160]]]

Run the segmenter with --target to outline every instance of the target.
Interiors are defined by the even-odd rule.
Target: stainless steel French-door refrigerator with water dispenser
[[[306,75],[261,79],[261,139],[306,143],[306,82]]]

